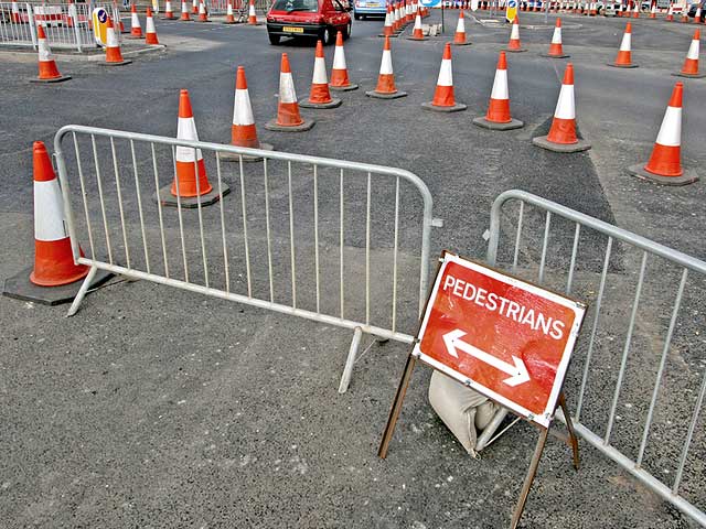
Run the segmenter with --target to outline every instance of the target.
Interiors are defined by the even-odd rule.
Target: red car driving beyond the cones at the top
[[[343,0],[347,6],[347,0]],[[330,44],[338,31],[343,39],[351,36],[350,8],[340,0],[275,0],[267,13],[267,34],[270,44],[279,44],[282,36],[309,36]]]

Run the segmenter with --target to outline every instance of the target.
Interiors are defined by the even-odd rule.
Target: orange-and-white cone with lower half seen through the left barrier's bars
[[[189,99],[189,90],[179,94],[179,120],[176,123],[176,139],[199,141],[194,112]],[[206,165],[201,149],[176,145],[174,180],[170,185],[159,190],[157,199],[163,206],[200,207],[208,206],[221,199],[231,190],[221,185],[221,193],[208,182]]]

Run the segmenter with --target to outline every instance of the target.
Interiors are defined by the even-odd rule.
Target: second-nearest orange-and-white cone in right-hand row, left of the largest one
[[[554,120],[547,136],[536,137],[532,142],[554,152],[587,151],[591,144],[576,134],[576,106],[574,102],[574,65],[568,63],[564,72],[564,80],[559,99],[554,111]]]

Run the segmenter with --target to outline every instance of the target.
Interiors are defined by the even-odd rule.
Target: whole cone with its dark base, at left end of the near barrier
[[[44,143],[32,148],[34,180],[34,263],[6,279],[2,294],[34,303],[57,305],[76,298],[87,277],[88,287],[97,287],[113,274],[74,261],[66,230],[64,203],[58,180]],[[84,257],[78,244],[78,256]],[[89,274],[90,273],[90,274]]]

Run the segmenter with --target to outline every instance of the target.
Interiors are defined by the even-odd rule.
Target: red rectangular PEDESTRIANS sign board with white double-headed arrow
[[[548,428],[585,305],[445,253],[414,355]]]

